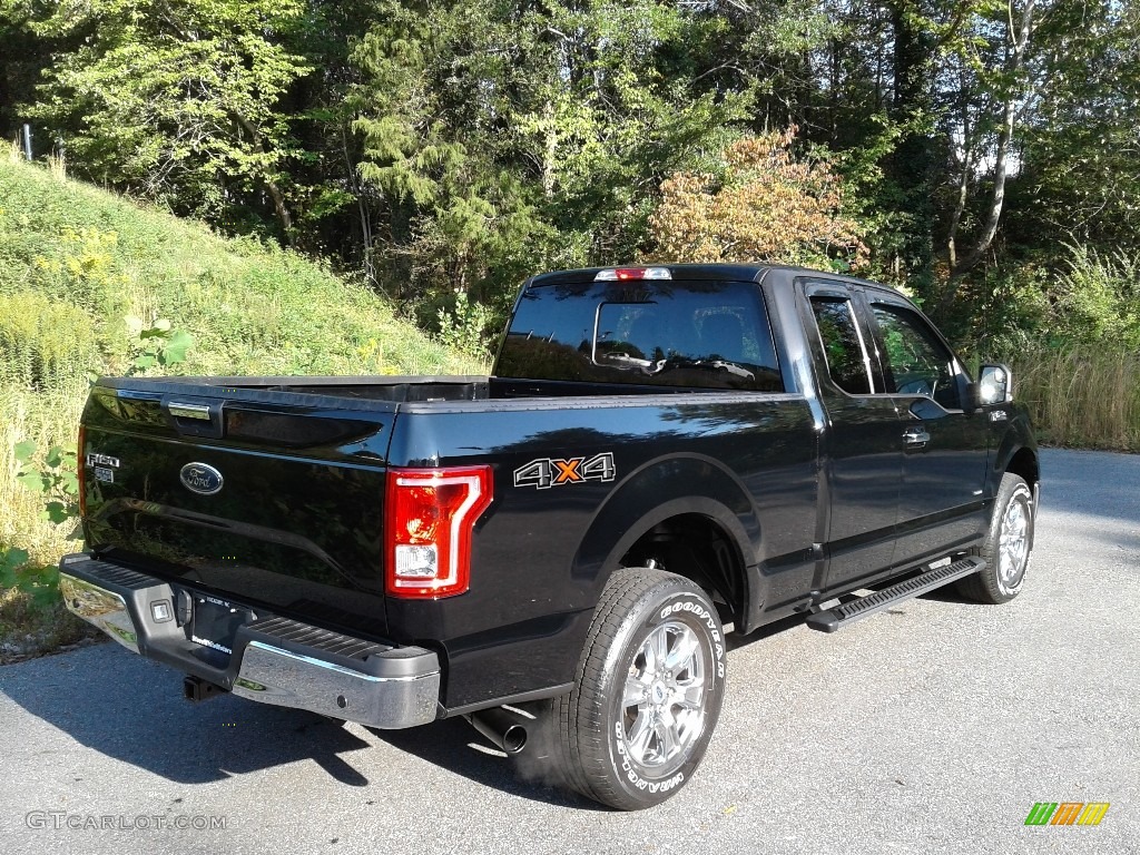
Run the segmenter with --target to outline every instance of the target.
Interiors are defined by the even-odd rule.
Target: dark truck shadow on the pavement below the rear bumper
[[[47,775],[83,774],[85,748],[186,784],[311,760],[341,784],[406,788],[407,766],[399,772],[390,767],[391,754],[385,750],[390,746],[522,798],[596,807],[544,787],[542,781],[516,779],[512,763],[489,746],[481,748],[482,739],[462,720],[408,731],[372,731],[233,695],[190,703],[182,698],[181,682],[181,675],[170,668],[115,644],[97,644],[0,668],[0,717],[9,728],[9,739],[19,734],[24,750],[70,752],[66,763],[43,764]],[[25,722],[14,728],[16,711],[3,711],[9,699],[79,746],[60,749],[51,744],[67,741],[44,732],[39,723]]]

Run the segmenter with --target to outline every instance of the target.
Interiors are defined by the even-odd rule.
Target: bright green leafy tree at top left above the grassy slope
[[[300,0],[88,0],[39,22],[82,36],[44,70],[32,113],[66,133],[82,173],[176,210],[212,212],[264,192],[293,228],[284,165],[288,88],[311,71],[286,41]]]

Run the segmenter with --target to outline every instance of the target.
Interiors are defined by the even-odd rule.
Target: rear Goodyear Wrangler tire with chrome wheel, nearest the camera
[[[665,801],[705,756],[724,679],[724,630],[705,592],[663,570],[616,571],[575,689],[553,705],[567,783],[622,811]]]

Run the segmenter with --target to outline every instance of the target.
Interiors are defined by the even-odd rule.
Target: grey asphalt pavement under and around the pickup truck
[[[462,720],[192,705],[108,643],[0,668],[0,852],[1140,853],[1140,456],[1042,467],[1013,603],[935,592],[738,640],[709,754],[660,807],[519,780]],[[1026,825],[1036,803],[1109,807]]]

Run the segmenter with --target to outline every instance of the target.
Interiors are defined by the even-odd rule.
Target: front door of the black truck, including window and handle
[[[986,527],[987,416],[963,410],[970,378],[922,315],[886,291],[864,296],[904,424],[895,563],[938,557]]]

